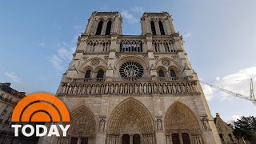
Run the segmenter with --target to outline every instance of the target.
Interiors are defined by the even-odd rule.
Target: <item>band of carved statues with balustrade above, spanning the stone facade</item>
[[[110,78],[109,81],[105,78],[78,78],[62,82],[59,94],[192,94],[198,93],[196,85],[196,81],[190,81],[189,77],[160,78],[159,81],[150,78]]]

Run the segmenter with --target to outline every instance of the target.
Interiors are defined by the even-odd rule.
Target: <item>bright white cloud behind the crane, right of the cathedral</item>
[[[216,78],[217,82],[213,83],[213,85],[223,88],[225,90],[230,90],[232,92],[249,97],[250,96],[250,78],[254,78],[254,79],[256,78],[256,66],[239,70],[234,74],[228,74],[224,77],[217,77]],[[210,91],[212,90],[211,87],[209,86],[206,87],[204,86],[204,84],[202,84],[202,88],[205,94],[210,93]],[[207,97],[208,96],[206,94],[206,98]],[[212,97],[210,99],[212,99],[213,97],[216,97],[221,101],[232,100],[234,98],[234,96],[230,96],[230,94],[219,92],[218,90],[213,91]]]

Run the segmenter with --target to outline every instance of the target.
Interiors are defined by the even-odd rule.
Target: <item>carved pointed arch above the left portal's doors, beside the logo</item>
[[[68,135],[70,137],[95,138],[96,120],[94,114],[85,105],[76,107],[70,114],[71,122]]]

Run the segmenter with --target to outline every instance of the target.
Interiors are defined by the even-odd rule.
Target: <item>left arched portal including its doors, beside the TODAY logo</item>
[[[70,118],[70,129],[67,133],[68,137],[70,137],[70,143],[94,144],[96,136],[94,114],[86,106],[82,105],[70,114]]]

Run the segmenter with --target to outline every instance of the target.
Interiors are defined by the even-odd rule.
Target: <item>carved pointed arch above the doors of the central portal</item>
[[[154,120],[150,111],[142,102],[134,98],[127,98],[110,114],[106,130],[108,134],[119,135],[131,126],[136,127],[133,131],[138,130],[141,134],[154,134]]]

